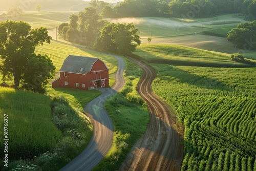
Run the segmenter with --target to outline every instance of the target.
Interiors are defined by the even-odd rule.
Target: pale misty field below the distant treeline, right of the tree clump
[[[235,28],[239,23],[246,21],[234,17],[233,14],[221,15],[211,18],[162,18],[162,17],[140,17],[125,18],[125,20],[111,20],[133,22],[139,28],[141,38],[147,37],[173,37],[186,34],[211,31],[212,29]],[[231,29],[230,29],[231,30]]]

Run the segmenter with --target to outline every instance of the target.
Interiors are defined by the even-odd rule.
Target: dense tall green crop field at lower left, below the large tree
[[[8,157],[33,158],[55,147],[62,134],[51,122],[51,99],[48,96],[9,88],[0,88],[0,125],[8,115]],[[4,130],[1,129],[0,136]],[[0,140],[4,151],[3,138]]]

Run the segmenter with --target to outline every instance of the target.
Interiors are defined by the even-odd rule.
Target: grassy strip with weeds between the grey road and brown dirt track
[[[144,100],[137,94],[136,86],[142,70],[125,60],[125,86],[105,102],[105,109],[114,123],[113,145],[94,170],[118,170],[135,143],[145,133],[150,120]]]

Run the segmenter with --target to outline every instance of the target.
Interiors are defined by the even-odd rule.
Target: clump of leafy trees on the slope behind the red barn
[[[58,31],[68,41],[119,54],[130,53],[140,45],[138,29],[133,24],[109,23],[93,7],[72,14],[70,23],[62,23]]]

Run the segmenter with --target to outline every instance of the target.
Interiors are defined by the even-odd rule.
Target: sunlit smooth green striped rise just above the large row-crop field
[[[214,53],[184,46],[141,44],[133,54],[150,63],[201,67],[246,67],[223,53]]]

